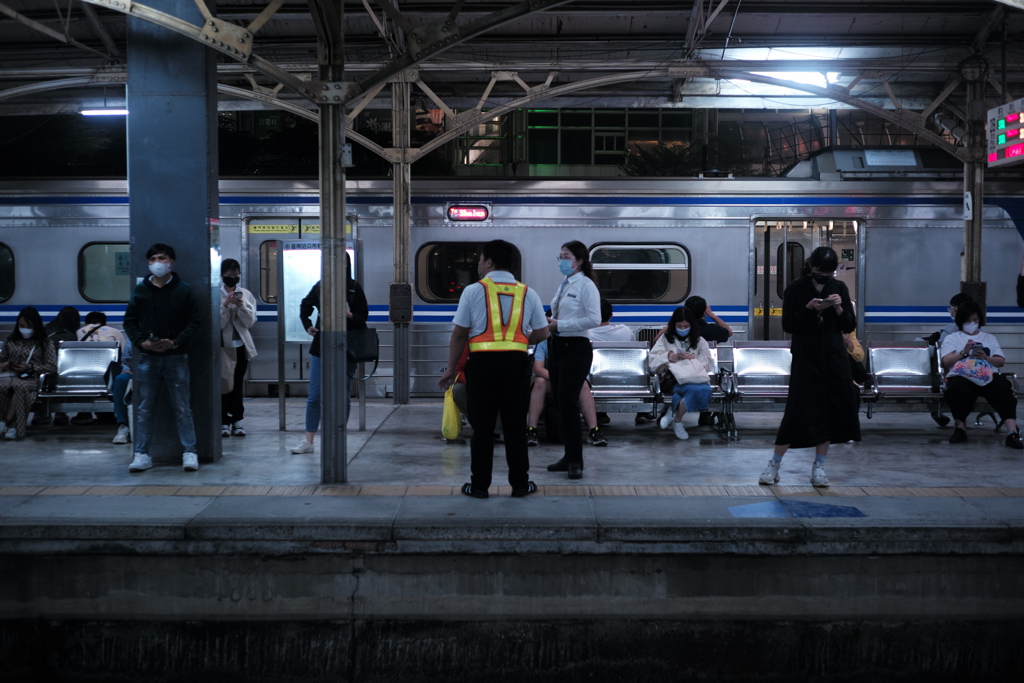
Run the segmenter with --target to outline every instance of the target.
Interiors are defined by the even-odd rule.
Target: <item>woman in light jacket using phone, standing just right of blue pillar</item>
[[[245,436],[243,385],[249,361],[256,357],[249,328],[256,323],[256,297],[239,287],[242,266],[233,258],[220,263],[220,435]]]

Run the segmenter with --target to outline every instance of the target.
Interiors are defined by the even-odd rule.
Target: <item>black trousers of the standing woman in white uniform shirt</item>
[[[549,337],[548,374],[551,393],[561,418],[565,460],[583,464],[583,434],[580,431],[580,390],[590,375],[594,347],[586,337]]]

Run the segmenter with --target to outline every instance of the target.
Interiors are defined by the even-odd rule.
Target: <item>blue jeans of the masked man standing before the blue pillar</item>
[[[171,409],[178,428],[178,439],[185,453],[196,453],[196,427],[188,402],[188,355],[139,354],[138,368],[132,392],[138,410],[135,429],[135,453],[146,453],[153,433],[153,419],[160,396],[160,387],[166,386]]]

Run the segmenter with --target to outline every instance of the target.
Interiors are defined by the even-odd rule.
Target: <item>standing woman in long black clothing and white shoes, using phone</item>
[[[775,453],[761,473],[763,484],[778,481],[788,449],[814,446],[811,483],[825,487],[828,444],[860,440],[857,389],[843,342],[843,333],[857,324],[850,292],[836,280],[839,258],[828,247],[815,249],[808,265],[810,274],[791,283],[782,300],[782,330],[793,335],[793,370]]]

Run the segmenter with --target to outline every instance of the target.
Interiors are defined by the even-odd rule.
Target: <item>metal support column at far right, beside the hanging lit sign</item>
[[[985,204],[985,102],[984,82],[968,84],[967,146],[964,163],[964,258],[961,292],[985,307],[986,288],[981,280],[982,215]]]

